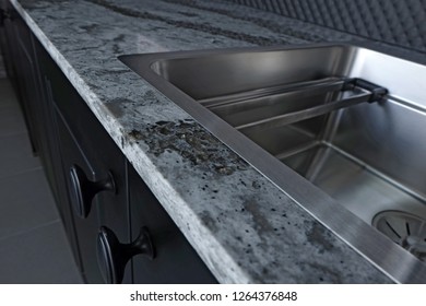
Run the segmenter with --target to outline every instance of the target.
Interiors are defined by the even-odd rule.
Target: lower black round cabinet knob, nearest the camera
[[[111,229],[102,226],[97,236],[97,261],[108,284],[122,282],[127,262],[135,255],[155,256],[154,247],[146,227],[142,227],[138,238],[130,244],[120,244]]]

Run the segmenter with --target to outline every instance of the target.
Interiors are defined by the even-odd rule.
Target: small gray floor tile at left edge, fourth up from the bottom
[[[26,132],[24,117],[17,105],[0,106],[0,138]]]

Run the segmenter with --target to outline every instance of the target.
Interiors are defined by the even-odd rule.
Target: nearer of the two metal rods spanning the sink
[[[262,119],[255,122],[235,127],[242,132],[253,132],[256,130],[265,130],[271,128],[277,128],[289,123],[298,122],[301,120],[310,119],[320,115],[326,115],[333,110],[354,106],[364,102],[370,102],[371,93],[364,90],[360,93],[354,94],[350,97],[330,102],[323,105],[306,108],[298,111],[287,113],[284,115],[275,116],[272,118]]]

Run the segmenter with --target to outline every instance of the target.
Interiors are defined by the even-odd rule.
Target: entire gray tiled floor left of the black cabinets
[[[81,283],[8,79],[0,78],[0,283]]]

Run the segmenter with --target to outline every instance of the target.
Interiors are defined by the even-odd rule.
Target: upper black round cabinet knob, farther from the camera
[[[92,200],[96,193],[104,190],[116,192],[116,184],[113,174],[109,172],[108,177],[92,181],[81,167],[73,165],[70,168],[70,179],[72,205],[75,213],[82,219],[87,217],[91,211]]]

